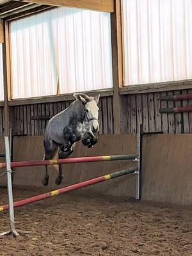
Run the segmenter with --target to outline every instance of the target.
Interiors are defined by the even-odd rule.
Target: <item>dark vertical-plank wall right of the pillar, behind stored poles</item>
[[[192,90],[122,95],[121,132],[136,133],[142,123],[144,132],[192,133],[192,113],[159,113],[159,108],[192,106],[192,100],[159,100],[160,95],[181,93],[192,93]]]

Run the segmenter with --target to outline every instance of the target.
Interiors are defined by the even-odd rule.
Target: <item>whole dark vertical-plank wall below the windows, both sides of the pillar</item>
[[[192,93],[192,90],[168,92],[136,93],[120,95],[121,132],[136,133],[138,125],[143,124],[143,131],[164,133],[192,133],[192,113],[160,114],[159,108],[192,106],[192,100],[160,101],[163,95]],[[68,107],[70,100],[62,102],[30,104],[10,107],[10,120],[15,135],[42,135],[47,120],[36,119],[38,116],[52,116]],[[113,134],[113,96],[101,97],[99,102],[100,134]],[[0,122],[3,118],[0,108]],[[1,123],[2,124],[2,123]],[[0,125],[0,135],[3,127]]]

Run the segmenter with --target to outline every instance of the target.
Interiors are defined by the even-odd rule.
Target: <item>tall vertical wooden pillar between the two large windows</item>
[[[111,13],[111,47],[113,67],[113,125],[114,133],[120,134],[120,95],[118,76],[118,36],[117,13],[120,0],[115,0],[115,12]]]

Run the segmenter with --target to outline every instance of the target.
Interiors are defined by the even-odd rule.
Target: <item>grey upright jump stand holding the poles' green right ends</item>
[[[135,172],[136,173],[136,195],[135,195],[135,198],[137,200],[140,200],[141,124],[138,126],[137,152],[138,152],[138,159],[137,159],[137,168],[138,168],[138,170]]]

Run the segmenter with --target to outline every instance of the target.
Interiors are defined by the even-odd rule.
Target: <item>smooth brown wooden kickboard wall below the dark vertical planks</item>
[[[0,149],[3,150],[0,138]],[[162,150],[163,148],[163,150]],[[156,134],[143,136],[141,199],[171,204],[192,204],[191,172],[192,134]],[[1,151],[3,152],[3,151]],[[33,152],[33,154],[31,154]],[[93,148],[86,148],[81,142],[71,157],[113,154],[135,154],[136,134],[101,135]],[[42,159],[44,143],[42,136],[18,136],[13,138],[13,161]],[[97,163],[63,164],[64,179],[57,186],[58,165],[49,166],[49,185],[46,191],[69,186],[100,175],[135,166],[132,161],[106,161]],[[3,172],[1,170],[0,174]],[[13,184],[42,188],[44,166],[15,168]],[[108,182],[90,186],[92,191],[113,196],[135,195],[135,175],[126,175]],[[1,184],[6,184],[2,176]],[[85,188],[87,189],[87,188]]]

